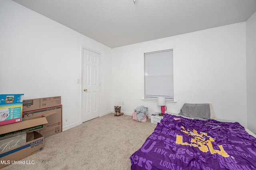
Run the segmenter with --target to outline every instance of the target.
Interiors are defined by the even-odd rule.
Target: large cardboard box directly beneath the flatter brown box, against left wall
[[[55,111],[56,113],[46,117],[48,123],[44,129],[37,132],[44,135],[44,138],[50,137],[57,133],[62,132],[62,105],[55,107],[48,107],[45,109],[35,109],[34,111],[24,111],[24,119],[33,118],[35,116],[44,115],[47,111]],[[29,117],[28,117],[29,115]]]

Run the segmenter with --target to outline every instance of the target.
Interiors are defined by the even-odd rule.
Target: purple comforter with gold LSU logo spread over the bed
[[[130,160],[132,170],[256,170],[256,138],[238,122],[164,114]]]

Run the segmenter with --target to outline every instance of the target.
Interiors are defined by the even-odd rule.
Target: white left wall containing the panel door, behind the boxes
[[[111,48],[11,0],[0,1],[0,94],[61,96],[63,129],[81,123],[81,45],[102,55],[102,114],[110,113]]]

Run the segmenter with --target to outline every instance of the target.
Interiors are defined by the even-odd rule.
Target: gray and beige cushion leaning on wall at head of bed
[[[214,112],[211,104],[188,104],[185,103],[178,115],[196,119],[212,119]]]

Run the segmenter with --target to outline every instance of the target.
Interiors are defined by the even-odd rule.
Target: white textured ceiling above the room
[[[256,0],[13,0],[108,47],[246,21]]]

